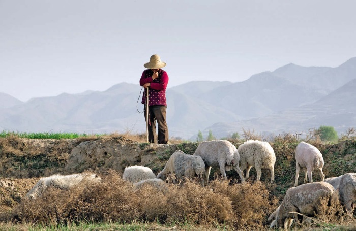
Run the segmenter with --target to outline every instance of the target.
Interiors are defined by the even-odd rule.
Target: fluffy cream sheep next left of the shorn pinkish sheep
[[[238,148],[240,154],[240,169],[246,169],[245,180],[249,178],[250,170],[255,167],[257,181],[260,180],[262,169],[269,169],[271,172],[271,183],[275,181],[276,155],[272,146],[264,141],[248,140]]]

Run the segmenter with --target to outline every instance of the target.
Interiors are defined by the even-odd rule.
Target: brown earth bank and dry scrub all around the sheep
[[[242,140],[231,142],[236,147],[243,143]],[[187,180],[180,186],[169,183],[169,191],[164,194],[150,186],[135,191],[131,183],[121,179],[123,169],[142,164],[157,174],[175,150],[193,154],[198,143],[164,146],[140,143],[122,136],[45,140],[42,143],[14,137],[0,138],[0,221],[21,224],[66,224],[83,220],[128,223],[159,221],[167,224],[189,223],[213,229],[267,229],[270,225],[267,222],[268,216],[283,200],[286,190],[293,185],[295,147],[299,142],[297,135],[286,134],[275,137],[270,143],[276,154],[274,184],[269,182],[269,171],[262,170],[261,182],[255,183],[255,172],[252,169],[250,179],[241,184],[235,171],[227,172],[230,180],[223,181],[219,169],[213,168],[211,182],[207,187],[203,188]],[[71,170],[95,171],[103,181],[90,186],[80,185],[69,191],[49,189],[36,201],[24,199],[38,177],[71,173],[67,169],[70,155],[80,143],[83,147],[85,144],[91,147],[85,149],[90,155],[83,152],[82,156],[77,156],[83,161],[72,161]],[[333,145],[317,139],[309,143],[323,154],[325,177],[356,172],[354,139]],[[301,175],[303,178],[303,173]],[[317,174],[314,176],[314,181],[320,180]],[[327,215],[313,218],[312,227],[345,224],[354,227],[356,224],[356,219],[346,216],[340,207],[334,208]],[[295,225],[303,228],[303,225]]]

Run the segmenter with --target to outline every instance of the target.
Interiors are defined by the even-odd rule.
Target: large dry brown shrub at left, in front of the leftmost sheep
[[[139,202],[132,193],[133,185],[122,180],[115,171],[109,171],[102,178],[100,183],[85,182],[68,191],[48,188],[39,199],[22,201],[17,216],[20,221],[41,224],[85,219],[133,220]]]

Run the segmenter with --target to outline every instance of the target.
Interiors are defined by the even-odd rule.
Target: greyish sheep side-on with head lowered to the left
[[[204,187],[205,164],[200,156],[188,155],[181,150],[176,150],[156,178],[166,180],[168,174],[175,174],[178,179],[183,179],[183,176],[187,178],[198,176]]]

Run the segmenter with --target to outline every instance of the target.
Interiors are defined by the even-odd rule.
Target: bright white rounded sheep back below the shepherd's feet
[[[130,181],[132,183],[153,178],[156,178],[156,175],[149,167],[144,166],[129,166],[125,168],[123,173],[123,180]]]

